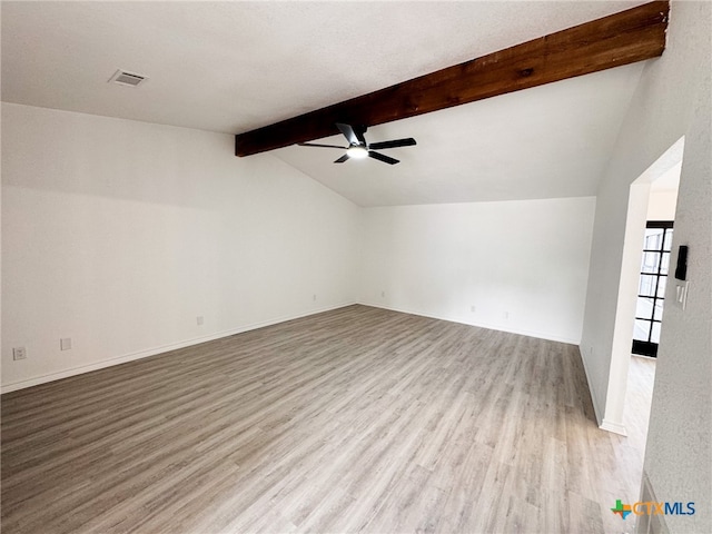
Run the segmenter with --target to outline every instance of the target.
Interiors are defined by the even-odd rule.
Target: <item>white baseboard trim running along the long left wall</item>
[[[305,312],[296,315],[281,316],[274,319],[263,320],[259,323],[253,323],[245,326],[239,326],[237,328],[230,328],[228,330],[216,332],[214,334],[208,334],[206,336],[194,337],[190,339],[185,339],[182,342],[171,343],[168,345],[161,345],[158,347],[147,348],[145,350],[139,350],[136,353],[125,354],[121,356],[115,356],[111,358],[102,359],[100,362],[95,362],[87,365],[80,365],[78,367],[71,367],[69,369],[59,370],[56,373],[48,373],[47,375],[36,376],[32,378],[28,378],[26,380],[19,380],[10,384],[3,384],[0,386],[0,394],[17,392],[18,389],[24,389],[27,387],[39,386],[40,384],[47,384],[48,382],[60,380],[62,378],[69,378],[70,376],[81,375],[85,373],[90,373],[92,370],[103,369],[106,367],[111,367],[113,365],[125,364],[127,362],[134,362],[135,359],[147,358],[149,356],[156,356],[157,354],[168,353],[170,350],[177,350],[179,348],[189,347],[191,345],[198,345],[200,343],[211,342],[214,339],[220,339],[221,337],[234,336],[236,334],[241,334],[244,332],[256,330],[258,328],[264,328],[266,326],[276,325],[278,323],[285,323],[287,320],[299,319],[301,317],[307,317],[309,315],[323,314],[324,312],[330,312],[333,309],[344,308],[346,306],[353,306],[357,303],[349,301],[346,304],[338,304],[336,306],[327,306],[324,308],[310,309],[309,312]]]

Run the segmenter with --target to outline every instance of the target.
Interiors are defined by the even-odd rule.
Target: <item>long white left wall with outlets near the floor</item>
[[[233,136],[3,103],[2,187],[3,390],[355,300],[360,208]]]

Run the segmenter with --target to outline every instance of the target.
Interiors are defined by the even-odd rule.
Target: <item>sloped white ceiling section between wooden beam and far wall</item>
[[[343,152],[326,148],[273,154],[360,206],[592,196],[640,73],[621,67],[370,128],[369,142],[416,139],[382,151],[393,167],[335,165]]]

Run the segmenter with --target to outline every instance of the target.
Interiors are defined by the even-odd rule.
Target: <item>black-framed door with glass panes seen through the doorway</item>
[[[670,270],[672,226],[671,220],[654,220],[649,221],[645,228],[641,279],[635,306],[633,354],[657,356]]]

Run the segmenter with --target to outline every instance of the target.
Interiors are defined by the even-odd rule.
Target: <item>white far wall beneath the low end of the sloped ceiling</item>
[[[578,343],[594,209],[592,197],[364,209],[360,301]]]

